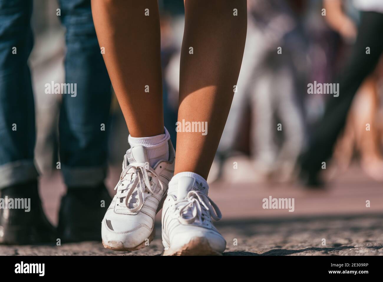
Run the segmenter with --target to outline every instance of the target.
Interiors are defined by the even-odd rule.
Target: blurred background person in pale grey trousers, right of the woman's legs
[[[301,54],[306,53],[307,41],[300,19],[305,1],[249,3],[259,36],[255,48],[257,64],[246,87],[252,107],[250,148],[255,171],[285,182],[291,177],[304,140],[303,113],[298,100],[302,98],[299,93],[305,82],[302,77],[306,62]]]

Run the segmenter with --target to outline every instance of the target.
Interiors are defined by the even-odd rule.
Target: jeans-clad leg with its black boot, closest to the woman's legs
[[[59,3],[66,28],[65,83],[77,84],[77,93],[62,95],[60,161],[68,190],[61,200],[58,231],[62,241],[96,240],[101,239],[100,222],[111,202],[104,185],[111,84],[90,0]]]

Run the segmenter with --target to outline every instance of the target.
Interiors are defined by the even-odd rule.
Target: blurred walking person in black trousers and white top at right
[[[339,82],[339,97],[329,97],[327,100],[325,113],[316,123],[315,132],[309,141],[308,148],[300,156],[300,179],[308,187],[323,185],[320,175],[322,162],[326,162],[331,157],[334,144],[345,126],[354,95],[363,81],[375,70],[383,51],[381,36],[383,2],[380,0],[355,0],[354,3],[361,10],[361,20],[351,55],[340,73],[339,79],[335,80],[335,82]],[[338,4],[332,3],[332,5],[339,5],[339,2]],[[332,26],[339,26],[334,18],[336,19],[336,17],[332,18]],[[352,23],[348,19],[344,21],[346,24],[340,27],[342,28],[341,34],[352,38],[354,34],[353,28],[350,28]],[[372,120],[371,122],[373,123]],[[380,161],[375,162],[375,165],[380,166]],[[373,172],[373,175],[376,175],[376,172]]]

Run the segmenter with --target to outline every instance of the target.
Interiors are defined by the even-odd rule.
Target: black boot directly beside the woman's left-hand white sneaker
[[[59,212],[57,231],[61,241],[101,241],[101,221],[110,203],[104,184],[69,188],[61,199]]]

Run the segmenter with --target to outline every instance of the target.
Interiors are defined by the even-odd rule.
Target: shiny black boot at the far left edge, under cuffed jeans
[[[13,208],[1,205],[0,244],[56,243],[55,228],[41,206],[37,180],[3,188],[0,190],[0,198],[7,207],[11,201],[14,202]],[[24,209],[15,208],[16,199],[24,199]],[[27,203],[29,207],[26,207]]]

